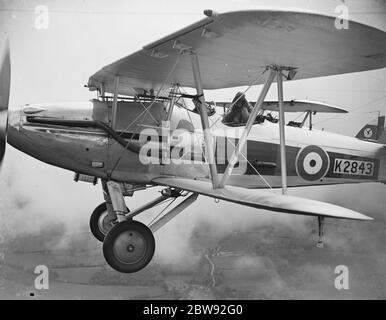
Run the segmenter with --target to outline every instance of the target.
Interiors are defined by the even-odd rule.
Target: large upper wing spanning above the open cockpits
[[[266,66],[297,68],[295,79],[379,69],[386,66],[386,33],[350,21],[337,29],[335,17],[289,11],[238,11],[205,18],[145,46],[90,77],[90,90],[119,93],[131,88],[194,87],[189,54],[194,50],[204,89],[261,84]],[[189,50],[188,50],[189,51]]]

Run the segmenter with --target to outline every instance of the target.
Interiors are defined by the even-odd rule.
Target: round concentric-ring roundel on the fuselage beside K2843
[[[326,151],[318,146],[304,147],[296,157],[296,172],[307,181],[323,178],[329,167],[329,156]]]

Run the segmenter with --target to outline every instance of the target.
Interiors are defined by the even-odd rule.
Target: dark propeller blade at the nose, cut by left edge
[[[11,86],[11,58],[9,43],[6,41],[5,50],[0,56],[0,164],[3,162],[5,146],[7,144],[8,102]]]

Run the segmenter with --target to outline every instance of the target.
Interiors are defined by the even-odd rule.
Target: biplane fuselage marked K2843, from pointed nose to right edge
[[[162,122],[166,109],[162,102],[150,108],[149,103],[118,103],[116,133],[127,145],[146,146],[147,151],[154,151],[156,145],[159,152],[150,154],[125,148],[109,132],[92,125],[92,121],[111,122],[111,102],[99,100],[37,104],[11,112],[8,142],[48,164],[101,179],[140,184],[152,184],[155,177],[169,175],[208,179],[203,135],[197,129],[199,116],[175,107],[169,131]],[[221,175],[243,127],[227,126],[218,117],[212,116],[210,122],[214,123],[216,163]],[[78,126],[76,121],[86,125]],[[292,126],[285,127],[285,136],[290,187],[386,180],[382,144]],[[277,123],[266,120],[255,124],[228,183],[246,188],[280,187],[279,144]]]

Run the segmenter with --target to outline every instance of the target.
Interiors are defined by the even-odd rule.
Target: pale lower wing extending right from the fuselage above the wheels
[[[222,189],[213,189],[212,184],[207,181],[173,177],[156,178],[153,179],[153,182],[159,185],[180,188],[209,197],[235,202],[259,209],[307,216],[322,216],[353,220],[372,220],[372,218],[359,212],[326,202],[281,195],[264,190],[243,189],[234,186],[225,186]]]

